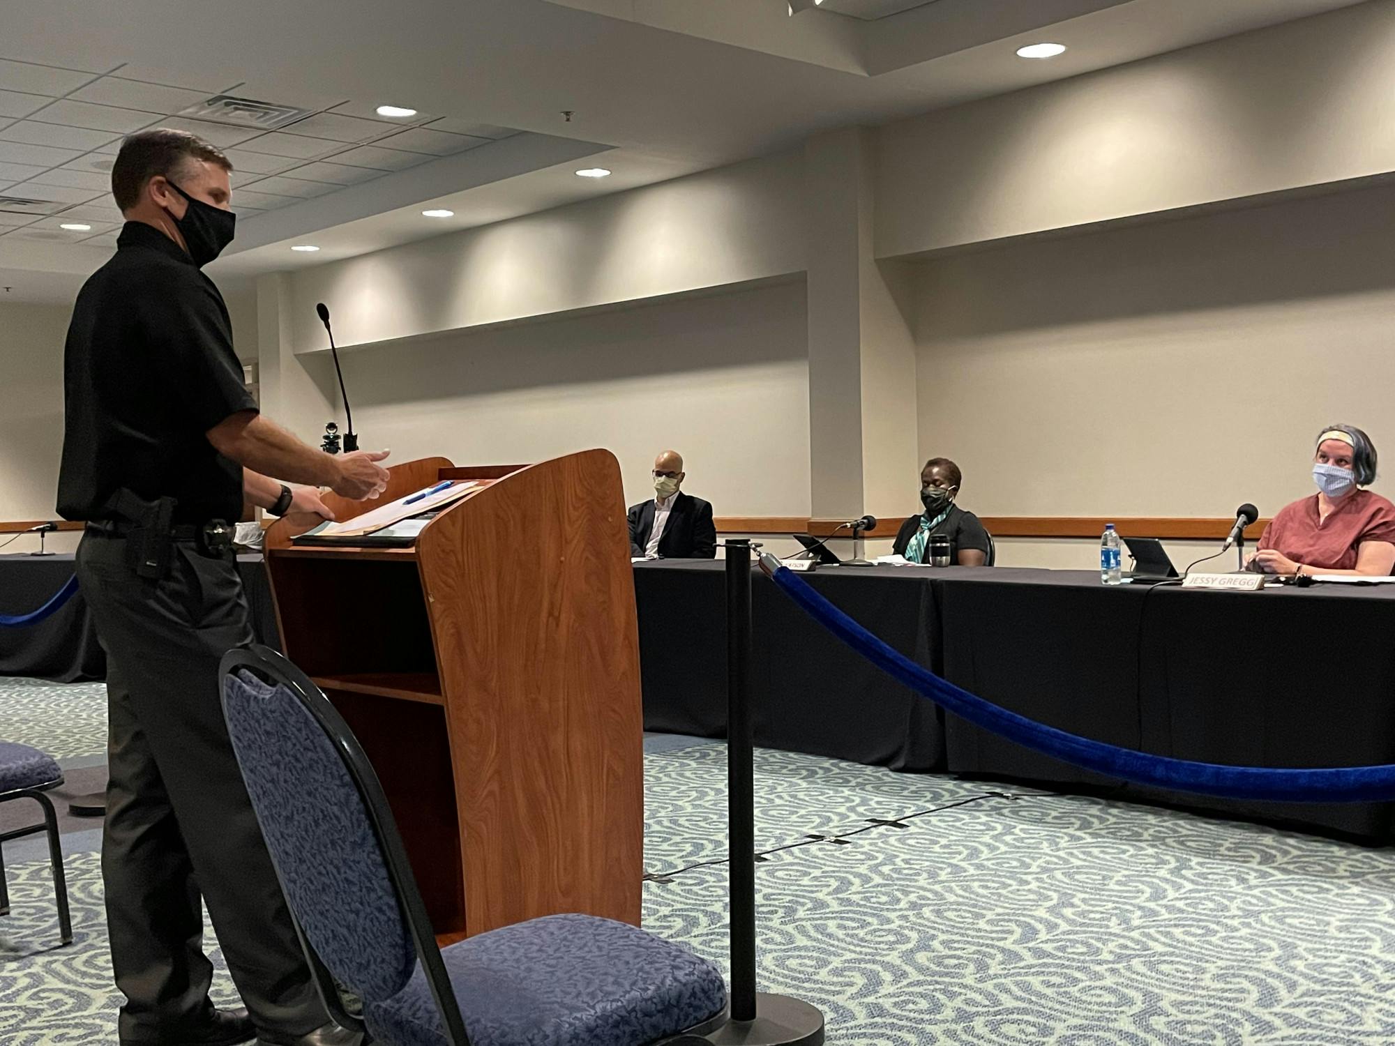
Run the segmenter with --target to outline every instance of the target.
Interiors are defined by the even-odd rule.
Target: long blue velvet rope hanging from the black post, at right
[[[1228,799],[1355,803],[1395,798],[1395,766],[1279,770],[1193,763],[1186,759],[1149,756],[1145,752],[1105,745],[1046,727],[985,702],[915,664],[819,596],[792,570],[781,566],[770,576],[780,590],[815,621],[921,696],[999,736],[1085,770],[1155,788]]]

